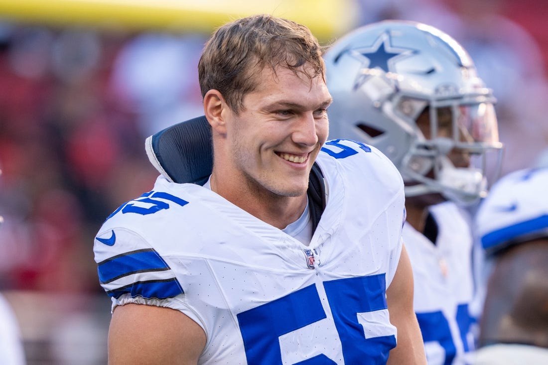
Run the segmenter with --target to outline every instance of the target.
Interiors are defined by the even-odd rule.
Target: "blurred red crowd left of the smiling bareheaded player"
[[[0,288],[98,290],[96,230],[156,176],[145,137],[200,113],[201,43],[13,24],[0,42]]]

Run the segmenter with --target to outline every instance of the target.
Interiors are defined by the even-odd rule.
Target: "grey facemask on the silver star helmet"
[[[415,136],[399,170],[406,195],[440,193],[461,204],[471,204],[487,194],[488,155],[500,155],[498,129],[490,94],[467,98],[429,100],[402,98],[398,112],[409,104],[427,104],[416,117]],[[500,161],[500,156],[497,158]]]

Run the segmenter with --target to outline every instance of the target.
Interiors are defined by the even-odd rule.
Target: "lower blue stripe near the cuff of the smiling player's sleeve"
[[[114,298],[119,298],[122,294],[130,294],[132,298],[142,296],[145,299],[167,299],[182,293],[184,292],[176,278],[136,282],[107,292]]]

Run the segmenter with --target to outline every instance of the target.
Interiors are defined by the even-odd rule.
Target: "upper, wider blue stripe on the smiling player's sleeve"
[[[99,281],[109,283],[132,273],[169,270],[168,264],[153,249],[142,249],[113,256],[97,267]]]

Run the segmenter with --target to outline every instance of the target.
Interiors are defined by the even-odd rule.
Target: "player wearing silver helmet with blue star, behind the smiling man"
[[[403,240],[428,363],[463,364],[474,346],[473,239],[463,207],[486,194],[487,163],[471,160],[486,162],[488,150],[501,148],[494,98],[453,38],[416,22],[358,28],[324,59],[329,138],[377,147],[403,176]]]

